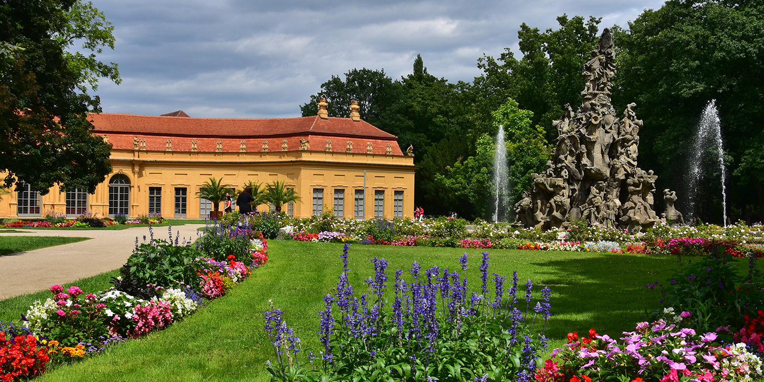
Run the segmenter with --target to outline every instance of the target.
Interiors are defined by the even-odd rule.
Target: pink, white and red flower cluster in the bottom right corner
[[[717,334],[698,334],[685,324],[691,313],[656,322],[640,322],[620,341],[598,335],[568,334],[568,345],[552,351],[552,360],[536,371],[536,380],[750,380],[762,374],[762,362],[746,345],[721,346]],[[638,378],[637,378],[638,377]],[[689,377],[685,379],[685,377]]]

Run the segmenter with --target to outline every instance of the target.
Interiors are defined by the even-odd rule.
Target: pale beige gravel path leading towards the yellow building
[[[173,227],[173,238],[180,232],[183,238],[196,239],[197,229],[204,225],[186,224]],[[65,236],[91,238],[79,243],[62,244],[34,251],[0,256],[0,299],[37,292],[53,284],[70,283],[83,277],[115,270],[125,264],[135,238],[149,237],[147,227],[112,230],[31,230],[2,233],[0,236]],[[167,239],[167,227],[154,228],[154,238]]]

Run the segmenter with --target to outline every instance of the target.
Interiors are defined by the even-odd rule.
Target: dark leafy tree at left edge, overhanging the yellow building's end
[[[60,183],[89,192],[111,171],[110,147],[92,134],[99,78],[120,82],[97,55],[114,48],[113,27],[80,0],[0,3],[0,171],[40,193]],[[79,49],[78,49],[79,46]]]

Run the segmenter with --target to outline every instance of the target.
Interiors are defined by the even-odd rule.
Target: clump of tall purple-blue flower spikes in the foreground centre
[[[265,312],[265,330],[277,362],[267,363],[276,380],[530,380],[545,348],[549,288],[533,304],[533,283],[520,301],[515,272],[509,290],[506,277],[494,274],[489,288],[488,254],[478,267],[481,283],[470,290],[468,257],[461,271],[432,267],[421,273],[414,262],[411,277],[395,272],[394,293],[387,290],[387,261],[374,257],[368,294],[358,296],[348,283],[348,244],[344,271],[335,293],[324,297],[319,336],[319,364],[309,351],[299,362],[300,339],[287,327],[279,309]],[[493,290],[490,290],[493,289]],[[367,298],[368,297],[368,298]],[[387,309],[386,301],[392,304]],[[531,308],[535,305],[535,308]],[[524,309],[523,309],[524,308]],[[538,316],[538,317],[536,317]],[[536,328],[533,327],[534,322]],[[536,330],[534,330],[536,329]],[[458,360],[458,361],[457,361]],[[308,365],[310,364],[310,365]]]

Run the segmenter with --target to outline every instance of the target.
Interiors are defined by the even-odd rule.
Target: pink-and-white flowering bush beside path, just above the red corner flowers
[[[60,285],[50,286],[49,290],[53,300],[47,299],[42,304],[35,302],[26,315],[29,329],[35,335],[76,345],[107,332],[105,304],[98,296],[88,293],[82,298],[83,290],[77,286],[70,286],[66,293]]]

